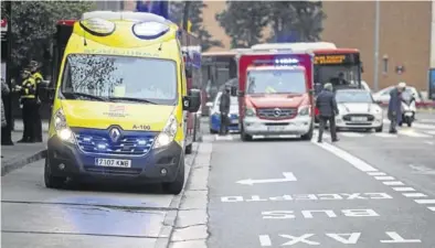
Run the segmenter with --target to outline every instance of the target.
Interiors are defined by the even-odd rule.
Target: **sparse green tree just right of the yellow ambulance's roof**
[[[203,26],[202,10],[206,8],[206,4],[202,1],[193,1],[190,4],[189,20],[192,23],[191,32],[194,33],[201,41],[201,50],[208,51],[212,46],[223,46],[219,40],[213,40],[209,31]],[[171,1],[171,21],[181,24],[183,17],[184,2]]]

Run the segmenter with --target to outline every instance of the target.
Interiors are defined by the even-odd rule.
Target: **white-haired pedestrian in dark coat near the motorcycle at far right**
[[[390,133],[397,132],[397,123],[402,121],[402,93],[406,89],[406,83],[401,82],[390,91],[389,111]]]

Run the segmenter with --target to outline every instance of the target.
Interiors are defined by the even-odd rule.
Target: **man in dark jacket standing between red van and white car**
[[[332,84],[327,83],[323,90],[316,98],[316,107],[319,109],[319,138],[317,142],[321,143],[323,130],[329,121],[329,130],[331,132],[332,142],[338,141],[336,132],[336,115],[338,115],[338,107],[336,96],[332,93]]]

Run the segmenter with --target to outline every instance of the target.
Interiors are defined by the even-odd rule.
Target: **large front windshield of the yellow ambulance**
[[[66,99],[176,105],[177,66],[169,60],[70,54],[61,95]]]

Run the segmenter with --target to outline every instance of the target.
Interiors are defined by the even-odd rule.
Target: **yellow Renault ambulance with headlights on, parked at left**
[[[73,23],[53,94],[45,185],[68,179],[162,183],[179,194],[187,89],[179,28],[152,13],[94,11]]]

